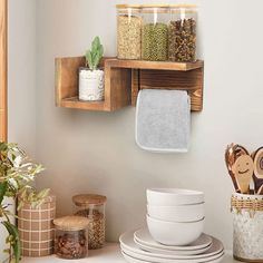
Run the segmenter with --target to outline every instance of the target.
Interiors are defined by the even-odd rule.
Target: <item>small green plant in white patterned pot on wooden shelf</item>
[[[80,100],[104,100],[104,70],[98,68],[103,56],[104,47],[96,37],[85,55],[86,67],[79,69]]]

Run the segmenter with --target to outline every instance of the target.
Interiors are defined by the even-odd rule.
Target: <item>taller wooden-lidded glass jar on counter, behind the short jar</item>
[[[106,201],[106,196],[94,194],[81,194],[72,197],[74,214],[89,220],[89,250],[101,249],[105,244]]]

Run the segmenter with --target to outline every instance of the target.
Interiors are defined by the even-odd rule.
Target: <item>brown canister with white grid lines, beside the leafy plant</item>
[[[33,208],[25,204],[18,212],[18,228],[23,256],[47,256],[53,253],[56,197],[48,196],[45,203]]]

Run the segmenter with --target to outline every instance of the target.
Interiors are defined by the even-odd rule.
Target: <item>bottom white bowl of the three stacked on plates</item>
[[[204,218],[196,222],[177,223],[155,220],[147,215],[147,225],[153,238],[164,245],[188,245],[204,231]]]

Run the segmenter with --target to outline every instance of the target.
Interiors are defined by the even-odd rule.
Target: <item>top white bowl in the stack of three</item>
[[[148,205],[173,206],[204,203],[204,193],[177,188],[147,189]]]

